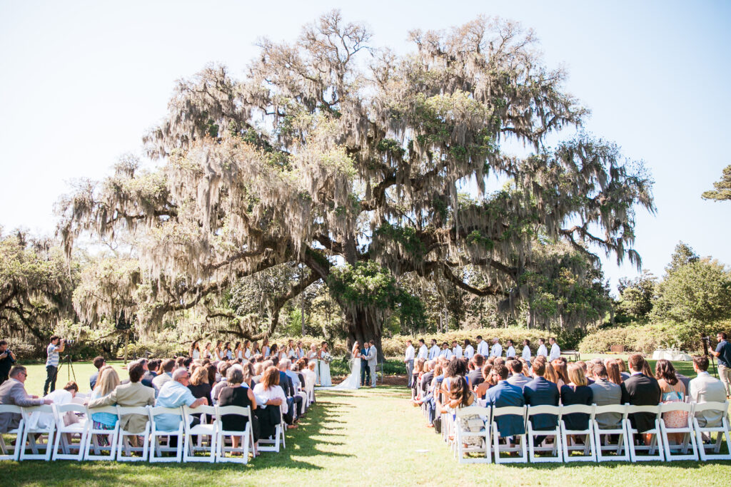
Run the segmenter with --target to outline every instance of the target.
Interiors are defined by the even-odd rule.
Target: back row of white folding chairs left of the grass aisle
[[[83,413],[86,417],[79,423],[65,424],[64,415],[67,413]],[[249,451],[254,449],[254,436],[251,429],[251,408],[240,406],[199,406],[195,409],[189,407],[122,407],[107,406],[88,409],[81,404],[53,404],[34,407],[18,407],[7,404],[0,404],[0,413],[20,414],[21,419],[18,428],[7,434],[15,435],[15,446],[8,445],[0,435],[0,460],[110,460],[110,461],[238,461],[246,464],[249,461]],[[38,423],[31,421],[33,413],[52,415],[53,421]],[[117,418],[113,429],[94,428],[91,415],[96,413],[108,413]],[[143,415],[148,418],[143,432],[128,432],[121,428],[120,419],[123,415]],[[174,415],[179,421],[178,429],[164,431],[159,429],[156,418],[159,415]],[[201,418],[211,415],[213,421],[190,425],[191,415],[200,414]],[[221,418],[223,415],[240,415],[247,418],[246,429],[240,431],[227,431],[223,428]],[[279,451],[280,437],[284,445],[284,431],[286,427],[279,424],[276,427],[276,438],[273,440],[260,440],[265,443],[260,446],[262,451]],[[74,435],[78,435],[79,442],[69,441]],[[192,437],[197,436],[197,442],[192,442]],[[130,438],[135,437],[134,441]],[[142,445],[135,445],[136,438],[142,437]],[[240,441],[237,448],[229,446],[233,444],[233,438]],[[105,439],[104,444],[99,440]],[[161,442],[166,438],[166,442]],[[171,446],[171,439],[176,438],[177,445]],[[202,439],[207,438],[207,445],[203,446]],[[45,441],[44,441],[45,440]],[[26,448],[26,444],[28,444]],[[269,444],[273,446],[268,446]],[[30,451],[29,451],[30,450]],[[205,451],[207,455],[199,456],[196,453]],[[132,453],[137,453],[132,455]],[[172,453],[172,456],[165,456]],[[240,457],[233,456],[234,454]]]

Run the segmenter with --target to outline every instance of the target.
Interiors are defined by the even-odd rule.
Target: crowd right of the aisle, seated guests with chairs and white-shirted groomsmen
[[[731,459],[727,388],[708,373],[708,356],[693,358],[690,379],[667,360],[653,371],[641,354],[626,367],[545,348],[531,356],[527,340],[523,355],[510,342],[505,357],[497,339],[488,349],[478,337],[478,353],[466,340],[463,356],[420,344],[411,402],[460,463]],[[409,342],[404,361],[413,360]]]

